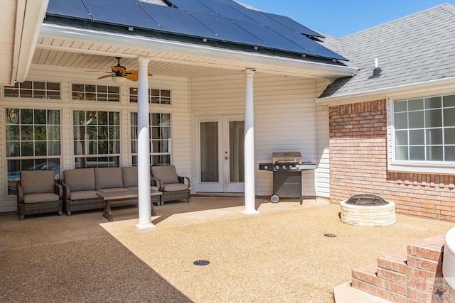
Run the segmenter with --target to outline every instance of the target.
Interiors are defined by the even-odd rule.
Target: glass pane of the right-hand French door
[[[245,123],[243,121],[229,122],[229,171],[230,182],[244,182],[244,140]]]

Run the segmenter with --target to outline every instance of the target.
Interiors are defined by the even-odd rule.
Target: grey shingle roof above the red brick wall
[[[319,98],[455,77],[455,6],[441,4],[344,38],[328,37],[325,45],[359,71],[337,79]],[[373,74],[375,58],[379,74]]]

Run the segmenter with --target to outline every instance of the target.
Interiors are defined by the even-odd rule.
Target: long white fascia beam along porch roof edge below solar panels
[[[225,48],[215,48],[213,46],[196,45],[181,41],[165,40],[158,38],[149,38],[141,35],[127,35],[124,33],[112,33],[107,31],[97,31],[87,28],[77,28],[71,26],[62,26],[53,23],[43,23],[40,31],[41,38],[70,40],[80,43],[94,43],[97,45],[114,45],[120,50],[136,49],[140,52],[149,53],[173,53],[189,57],[204,57],[213,60],[223,60],[227,64],[214,67],[245,70],[245,63],[248,67],[258,72],[286,74],[296,77],[316,77],[325,79],[336,79],[339,77],[352,76],[358,71],[355,67],[345,65],[335,65],[321,62],[311,62],[310,60],[298,60],[289,57],[280,57],[277,55],[264,55],[251,53],[242,50],[232,50]],[[104,51],[82,49],[82,48],[63,48],[58,45],[37,45],[37,48],[48,50],[61,50],[73,53],[87,53],[92,55],[122,55],[122,57],[138,57],[128,53],[106,53]],[[137,53],[137,52],[136,52]],[[152,60],[161,60],[159,57],[150,55]],[[236,64],[236,62],[241,64]],[[181,64],[198,64],[186,60],[176,62]],[[206,65],[207,63],[205,63]],[[289,73],[283,72],[283,69],[289,70]]]

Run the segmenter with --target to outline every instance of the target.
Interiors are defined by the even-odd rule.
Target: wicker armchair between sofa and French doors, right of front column
[[[174,165],[152,166],[151,175],[156,184],[158,184],[158,190],[163,193],[161,205],[164,202],[181,199],[186,199],[186,202],[190,202],[190,178],[177,175]]]

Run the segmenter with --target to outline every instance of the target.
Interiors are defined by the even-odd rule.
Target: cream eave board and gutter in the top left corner
[[[18,0],[11,85],[25,81],[49,0]]]

